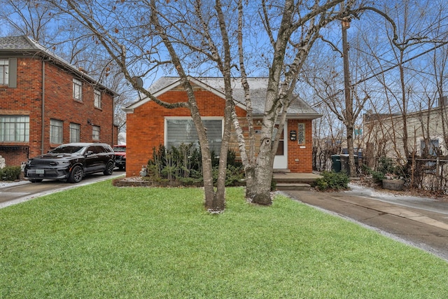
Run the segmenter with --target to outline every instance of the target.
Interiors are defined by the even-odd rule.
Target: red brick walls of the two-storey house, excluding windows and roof
[[[41,60],[18,58],[17,88],[0,86],[0,115],[29,115],[29,142],[0,142],[1,146],[29,146],[29,153],[22,149],[17,153],[0,151],[6,159],[6,165],[20,165],[20,162],[35,155],[46,153],[59,144],[50,144],[50,119],[62,120],[63,143],[70,141],[70,123],[80,125],[80,141],[92,142],[92,125],[101,127],[100,140],[107,144],[116,141],[113,134],[113,97],[102,92],[102,109],[94,108],[94,88],[83,83],[83,102],[73,100],[73,75],[45,62],[45,120],[44,144],[41,144],[41,109],[42,109],[42,74]],[[114,137],[114,139],[113,139]]]

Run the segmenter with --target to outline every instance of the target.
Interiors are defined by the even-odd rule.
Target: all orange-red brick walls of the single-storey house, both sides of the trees
[[[195,92],[201,116],[223,116],[225,101],[211,92]],[[171,90],[159,97],[165,102],[186,102],[183,90]],[[237,108],[240,120],[244,120],[245,111]],[[153,148],[164,144],[165,117],[190,116],[188,109],[165,109],[154,102],[147,102],[127,114],[127,160],[126,176],[139,176],[142,165],[152,158]],[[297,123],[305,124],[305,144],[288,141],[288,168],[291,172],[312,172],[311,120],[288,120],[288,130],[297,131]],[[287,133],[286,138],[289,137]],[[235,137],[232,137],[235,139]],[[231,142],[232,144],[232,142]],[[237,147],[232,146],[235,151]],[[298,159],[296,161],[295,159]]]

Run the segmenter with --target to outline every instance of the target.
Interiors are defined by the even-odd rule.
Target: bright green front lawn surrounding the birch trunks
[[[111,181],[0,210],[0,298],[448,298],[448,263],[278,196]]]

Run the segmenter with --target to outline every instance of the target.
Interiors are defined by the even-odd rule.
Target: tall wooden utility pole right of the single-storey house
[[[347,42],[347,29],[350,28],[350,18],[344,18],[342,25],[342,55],[344,60],[344,96],[347,151],[349,152],[350,176],[356,176],[355,157],[353,155],[353,101],[351,100],[350,66],[349,66],[349,43]]]

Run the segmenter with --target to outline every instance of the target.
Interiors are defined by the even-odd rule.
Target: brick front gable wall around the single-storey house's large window
[[[223,116],[225,100],[206,90],[196,90],[195,96],[201,116]],[[186,102],[183,90],[170,90],[159,97],[165,102]],[[244,115],[237,108],[239,116]],[[189,109],[165,109],[147,102],[128,113],[126,119],[126,176],[138,176],[142,165],[153,156],[153,148],[164,144],[165,116],[190,116]]]

